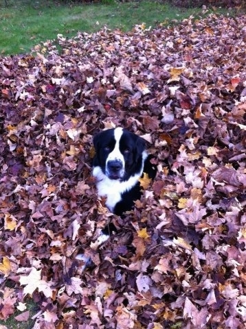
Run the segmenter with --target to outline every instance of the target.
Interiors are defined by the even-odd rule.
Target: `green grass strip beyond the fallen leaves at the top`
[[[123,31],[136,24],[155,26],[198,15],[201,10],[181,11],[155,1],[83,4],[52,0],[0,0],[0,55],[27,53],[41,41],[57,34],[75,36],[78,31],[96,32],[107,25]]]

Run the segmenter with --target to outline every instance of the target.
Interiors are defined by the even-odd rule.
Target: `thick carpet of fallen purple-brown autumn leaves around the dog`
[[[245,328],[245,26],[105,29],[0,59],[0,319],[28,319],[32,296],[35,329]],[[118,125],[158,164],[124,218],[91,178],[93,134]]]

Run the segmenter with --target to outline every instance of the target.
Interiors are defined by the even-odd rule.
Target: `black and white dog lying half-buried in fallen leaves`
[[[93,145],[96,155],[92,175],[96,179],[98,196],[106,198],[105,205],[110,212],[122,216],[142,195],[139,178],[144,173],[151,180],[155,178],[157,166],[151,162],[153,156],[148,155],[143,138],[122,127],[99,132],[93,138]],[[113,224],[109,224],[93,245],[107,241],[114,230]],[[83,269],[91,263],[84,254],[78,254],[76,259],[83,261]]]

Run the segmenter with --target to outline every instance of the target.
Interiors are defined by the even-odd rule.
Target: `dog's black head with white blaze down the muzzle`
[[[141,168],[145,143],[132,132],[120,127],[104,130],[94,137],[93,144],[93,166],[99,166],[111,180],[127,180]]]

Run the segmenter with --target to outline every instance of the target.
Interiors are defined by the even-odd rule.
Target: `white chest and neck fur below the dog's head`
[[[143,151],[142,167],[140,171],[123,182],[120,179],[111,180],[102,172],[102,169],[99,166],[93,168],[92,174],[97,180],[96,186],[98,188],[98,195],[100,197],[107,197],[106,206],[111,212],[113,212],[115,204],[120,202],[122,199],[122,193],[129,191],[135,184],[137,184],[137,181],[142,176],[144,171],[144,161],[146,160],[147,156],[147,152]]]

